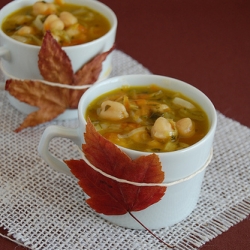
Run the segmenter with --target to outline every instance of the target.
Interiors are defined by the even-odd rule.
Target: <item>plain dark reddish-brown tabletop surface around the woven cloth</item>
[[[117,49],[154,74],[194,85],[218,111],[250,127],[250,1],[102,2],[118,18]],[[25,248],[0,237],[0,249]],[[250,217],[201,249],[250,249]]]

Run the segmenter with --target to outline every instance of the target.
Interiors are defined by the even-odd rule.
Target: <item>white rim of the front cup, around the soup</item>
[[[207,134],[201,140],[199,140],[198,142],[196,142],[195,144],[193,144],[193,145],[191,145],[191,146],[189,146],[187,148],[183,148],[183,149],[176,150],[176,151],[170,151],[170,152],[145,152],[145,151],[137,151],[137,150],[125,148],[125,147],[122,147],[122,146],[119,146],[119,145],[115,144],[118,148],[122,149],[122,151],[124,151],[124,152],[131,152],[131,153],[133,152],[133,153],[138,153],[138,154],[143,153],[144,155],[150,155],[152,153],[155,153],[157,155],[162,155],[162,154],[175,155],[175,154],[185,153],[185,152],[193,150],[193,149],[195,149],[197,147],[200,147],[201,144],[205,143],[205,141],[208,138],[210,138],[211,136],[213,136],[213,134],[214,134],[214,132],[216,130],[216,126],[217,126],[217,113],[216,113],[216,109],[215,109],[213,103],[211,102],[211,100],[201,90],[199,90],[198,88],[194,87],[193,85],[191,85],[191,84],[189,84],[187,82],[184,82],[184,81],[176,79],[176,78],[168,77],[168,76],[153,75],[153,74],[149,74],[149,75],[146,75],[146,74],[133,74],[133,75],[115,76],[115,77],[111,77],[111,78],[108,78],[106,80],[103,80],[103,81],[99,82],[98,84],[95,84],[92,87],[90,87],[89,89],[87,89],[84,92],[84,94],[82,95],[82,97],[81,97],[81,99],[79,101],[79,104],[78,104],[78,119],[79,119],[80,123],[82,123],[82,124],[86,124],[87,123],[86,119],[84,118],[83,105],[82,105],[83,101],[85,100],[85,96],[90,95],[91,93],[93,93],[93,91],[95,91],[95,89],[107,85],[110,81],[114,81],[116,79],[120,79],[120,78],[124,78],[124,77],[126,79],[129,79],[129,78],[150,77],[150,78],[152,78],[152,80],[156,79],[156,78],[157,79],[166,79],[166,80],[171,80],[171,81],[177,81],[177,82],[179,82],[181,84],[185,84],[185,85],[188,86],[188,88],[192,88],[199,95],[201,95],[204,98],[204,100],[206,100],[207,104],[209,105],[209,109],[212,111],[212,115],[211,115],[211,119],[209,119],[210,127],[209,127],[209,130],[208,130]],[[153,83],[153,82],[152,82],[152,84],[156,84],[157,85],[157,83]],[[136,85],[133,84],[133,86],[136,86]],[[112,91],[114,89],[115,88],[112,88],[109,91]],[[166,87],[166,89],[168,89],[168,88]],[[104,93],[102,93],[102,94],[104,94]],[[97,98],[97,97],[95,97],[95,98]],[[198,103],[198,104],[201,105],[201,103]]]

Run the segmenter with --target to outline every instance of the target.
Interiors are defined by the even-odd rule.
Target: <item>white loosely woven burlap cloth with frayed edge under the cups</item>
[[[149,74],[121,51],[113,52],[112,76]],[[144,230],[113,225],[84,201],[73,177],[53,171],[37,153],[50,124],[76,127],[76,120],[52,121],[20,133],[13,130],[25,115],[0,91],[0,226],[12,240],[31,249],[164,249]],[[177,249],[197,249],[250,213],[250,129],[218,112],[214,156],[195,210],[184,221],[153,232]],[[53,139],[51,150],[78,157],[73,143]],[[59,155],[59,157],[60,157]]]

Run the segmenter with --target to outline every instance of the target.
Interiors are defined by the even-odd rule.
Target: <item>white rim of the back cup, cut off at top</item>
[[[29,3],[31,0],[22,0],[22,4],[24,4],[25,2]],[[49,0],[50,1],[50,0]],[[52,1],[51,1],[52,2]],[[66,3],[71,3],[69,2],[68,0],[66,0]],[[86,4],[85,4],[86,3]],[[9,6],[11,5],[16,5],[18,4],[18,1],[11,1],[9,3],[7,3],[2,9],[0,9],[0,12],[4,13],[5,9],[6,8],[9,8]],[[30,3],[31,4],[31,3]],[[27,4],[30,5],[30,4]],[[73,3],[74,4],[74,3]],[[88,4],[90,4],[91,6],[94,5],[94,6],[101,6],[103,9],[105,9],[106,11],[110,12],[110,17],[113,21],[113,23],[109,20],[110,18],[107,17],[107,15],[103,14],[102,12],[100,12],[104,17],[106,17],[108,20],[109,20],[109,23],[111,25],[109,31],[104,34],[103,36],[93,40],[93,41],[90,41],[90,42],[87,42],[87,43],[82,43],[82,44],[77,44],[77,45],[71,45],[71,46],[64,46],[62,47],[63,50],[72,50],[74,48],[79,48],[79,47],[89,47],[89,46],[92,46],[94,45],[95,43],[98,43],[100,40],[103,40],[103,39],[106,39],[107,36],[109,36],[110,34],[112,34],[113,32],[115,32],[115,30],[117,29],[117,25],[118,25],[118,20],[117,20],[117,16],[116,14],[114,13],[114,11],[109,7],[107,6],[106,4],[100,2],[100,1],[93,1],[93,0],[82,0],[82,3],[79,4],[79,5],[83,5],[83,6],[88,6]],[[25,5],[23,5],[25,6]],[[94,9],[93,7],[91,7],[92,9]],[[40,49],[41,46],[39,45],[33,45],[33,44],[26,44],[26,43],[22,43],[22,42],[19,42],[13,38],[11,38],[10,36],[6,35],[3,30],[2,30],[2,23],[3,23],[3,20],[6,16],[8,16],[9,14],[13,13],[14,11],[16,10],[13,10],[11,12],[9,12],[7,15],[4,15],[1,23],[0,23],[0,35],[2,35],[3,37],[5,37],[8,41],[11,41],[12,43],[18,45],[18,46],[23,46],[23,47],[27,47],[27,48],[32,48],[32,49]]]

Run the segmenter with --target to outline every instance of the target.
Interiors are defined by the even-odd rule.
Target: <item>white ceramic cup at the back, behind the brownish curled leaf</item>
[[[5,5],[0,10],[0,25],[4,19],[14,11],[23,8],[25,6],[32,5],[37,0],[22,0],[12,1]],[[53,2],[48,0],[47,2]],[[99,1],[93,0],[70,0],[67,1],[72,4],[87,6],[93,10],[102,13],[110,22],[110,30],[102,37],[80,45],[63,47],[63,50],[71,60],[73,71],[76,72],[81,66],[90,61],[96,55],[108,51],[115,43],[117,18],[115,13],[106,5]],[[0,56],[2,58],[2,69],[5,73],[6,79],[14,78],[18,79],[43,79],[38,68],[38,53],[40,46],[29,45],[16,41],[7,36],[2,29],[0,29]],[[100,73],[99,80],[103,80],[108,77],[111,72],[111,54],[103,62],[102,72]],[[4,84],[0,86],[4,88]],[[10,103],[19,111],[25,114],[33,112],[36,108],[25,103],[19,102],[17,99],[10,96]],[[61,115],[64,118],[75,118],[77,112],[66,112],[67,115]],[[74,114],[70,114],[74,113]]]

